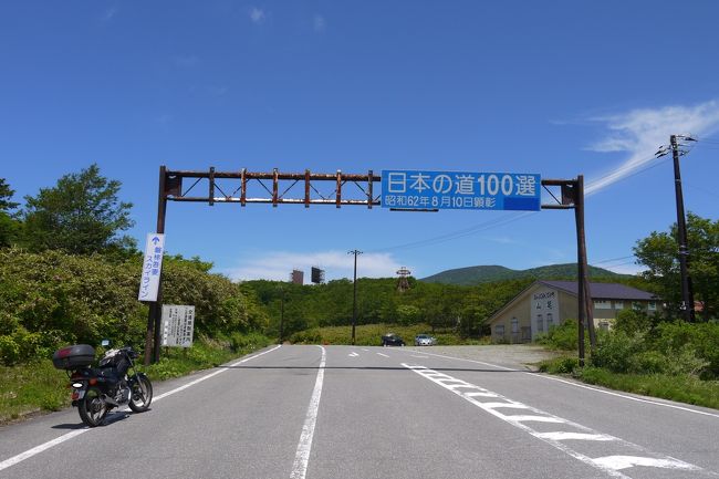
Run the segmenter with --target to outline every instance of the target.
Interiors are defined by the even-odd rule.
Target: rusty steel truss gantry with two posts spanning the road
[[[382,195],[374,196],[373,188],[373,185],[381,180],[382,177],[374,175],[373,170],[369,170],[366,175],[347,175],[341,170],[333,174],[313,174],[309,169],[305,169],[304,173],[280,173],[278,168],[274,168],[271,173],[252,173],[244,168],[237,171],[217,171],[215,167],[210,167],[206,171],[188,171],[169,170],[165,166],[160,166],[156,232],[165,232],[167,201],[207,202],[210,206],[216,202],[226,202],[239,204],[242,207],[248,204],[269,204],[273,207],[278,205],[304,205],[305,208],[309,208],[310,205],[334,205],[336,208],[342,206],[366,206],[372,209],[374,206],[381,206],[379,198]],[[330,183],[329,187],[326,187],[327,183]],[[320,184],[324,184],[325,187],[321,187]],[[295,188],[298,185],[303,188]],[[580,175],[576,179],[543,179],[542,187],[555,200],[555,204],[542,205],[542,209],[574,209],[576,218],[579,356],[580,365],[584,365],[585,323],[590,330],[591,344],[595,344],[584,233],[584,178]],[[556,191],[558,195],[550,187],[560,188],[560,191]],[[322,189],[324,189],[324,192],[322,192]],[[200,191],[206,191],[206,194]],[[355,250],[354,252],[356,268],[358,251]],[[153,362],[159,361],[161,298],[160,271],[157,300],[149,304],[145,364],[149,364],[150,360]],[[352,337],[354,344],[354,321]]]

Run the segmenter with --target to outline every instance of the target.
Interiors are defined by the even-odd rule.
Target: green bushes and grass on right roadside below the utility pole
[[[719,409],[719,323],[656,322],[626,311],[613,331],[597,332],[594,351],[587,343],[583,368],[576,358],[576,327],[567,321],[541,341],[565,354],[541,363],[540,371]]]

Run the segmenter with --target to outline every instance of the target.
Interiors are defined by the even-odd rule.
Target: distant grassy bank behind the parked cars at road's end
[[[397,324],[363,324],[355,327],[355,344],[361,346],[381,346],[382,335],[398,334],[405,343],[414,345],[417,334],[431,334],[440,345],[487,344],[477,340],[465,340],[455,332],[431,333],[431,326],[415,324],[400,326]],[[292,335],[294,344],[352,344],[352,326],[326,326],[301,331]]]

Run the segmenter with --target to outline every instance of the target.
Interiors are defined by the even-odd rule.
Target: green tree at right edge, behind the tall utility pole
[[[637,241],[634,253],[637,263],[648,268],[643,274],[668,305],[670,316],[677,316],[681,304],[677,226],[668,232],[653,231]],[[704,303],[702,319],[716,316],[719,303],[719,220],[711,221],[694,214],[687,217],[689,274],[695,299]]]

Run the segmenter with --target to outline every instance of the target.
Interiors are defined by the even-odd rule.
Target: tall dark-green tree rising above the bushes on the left
[[[61,249],[76,254],[134,249],[131,238],[118,237],[133,226],[132,204],[118,200],[119,187],[93,164],[63,176],[35,197],[27,196],[25,243],[35,251]]]

